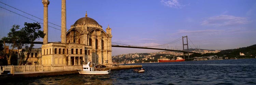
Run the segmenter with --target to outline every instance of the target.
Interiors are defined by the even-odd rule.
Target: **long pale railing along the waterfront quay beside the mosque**
[[[20,65],[20,66],[2,66],[3,71],[10,71],[11,74],[15,72],[34,72],[34,71],[60,71],[60,70],[76,70],[82,69],[79,66],[52,66],[52,65]]]

